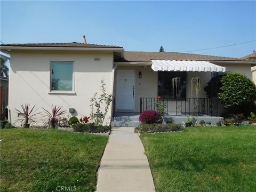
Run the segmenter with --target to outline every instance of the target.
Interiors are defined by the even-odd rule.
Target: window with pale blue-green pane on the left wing
[[[73,61],[51,61],[51,91],[73,91]]]

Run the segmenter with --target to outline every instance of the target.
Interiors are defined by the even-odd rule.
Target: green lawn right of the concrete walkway
[[[156,191],[255,191],[256,126],[141,134]]]

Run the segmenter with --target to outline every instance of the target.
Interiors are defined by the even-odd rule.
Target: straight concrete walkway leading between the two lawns
[[[155,191],[144,152],[134,128],[113,128],[101,159],[97,191]]]

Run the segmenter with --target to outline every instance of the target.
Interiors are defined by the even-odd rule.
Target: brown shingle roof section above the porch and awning
[[[141,51],[125,51],[124,59],[116,62],[151,62],[152,59],[160,60],[226,60],[241,61],[238,58],[218,57],[211,55],[191,54],[191,53],[175,53],[175,52],[141,52]]]

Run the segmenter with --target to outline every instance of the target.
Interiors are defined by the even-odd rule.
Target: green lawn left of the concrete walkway
[[[1,191],[57,191],[57,186],[96,189],[107,136],[2,129],[1,139]]]

